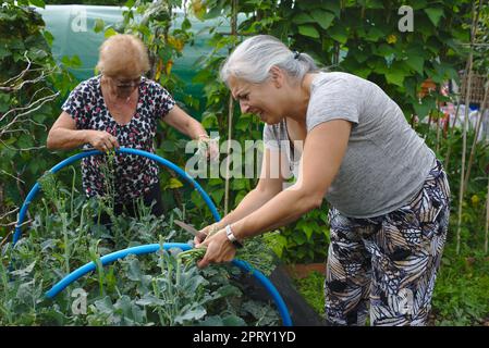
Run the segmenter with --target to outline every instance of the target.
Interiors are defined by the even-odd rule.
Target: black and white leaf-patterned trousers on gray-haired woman
[[[425,325],[450,215],[450,187],[439,161],[406,206],[370,219],[329,211],[325,282],[330,325]],[[368,311],[368,309],[370,311]]]

